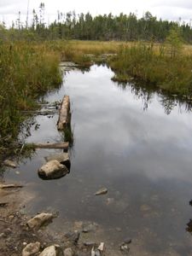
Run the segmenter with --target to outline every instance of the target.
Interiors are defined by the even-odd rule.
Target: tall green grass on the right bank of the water
[[[114,80],[142,79],[162,90],[192,96],[191,49],[172,49],[170,44],[124,45],[110,61]]]

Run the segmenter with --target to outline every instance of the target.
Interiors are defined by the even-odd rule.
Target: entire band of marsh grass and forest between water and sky
[[[24,113],[38,108],[38,97],[61,84],[60,61],[89,67],[103,61],[101,55],[115,54],[108,59],[114,80],[143,79],[191,98],[189,24],[157,20],[149,12],[141,19],[58,12],[49,26],[44,20],[41,3],[32,23],[24,26],[19,13],[11,27],[0,26],[0,147],[8,134],[17,137]]]

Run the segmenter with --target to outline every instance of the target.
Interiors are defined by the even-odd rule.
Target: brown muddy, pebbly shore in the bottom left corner
[[[44,222],[42,226],[32,226],[33,218],[25,213],[25,208],[26,204],[30,204],[31,201],[35,200],[36,196],[34,193],[26,191],[26,189],[0,189],[1,256],[39,255],[44,252],[45,248],[55,244],[60,247],[61,254],[58,255],[120,255],[117,252],[113,252],[110,247],[108,248],[108,254],[105,251],[105,244],[96,242],[95,231],[97,229],[96,233],[98,233],[98,226],[94,223],[76,221],[72,225],[67,222],[65,224],[61,222],[60,232],[58,230],[55,231],[54,224],[49,227],[49,222],[46,224]],[[37,216],[40,215],[43,215],[43,213]],[[56,216],[57,213],[49,213],[47,215],[55,215],[54,218],[58,217]],[[52,219],[52,221],[54,222],[55,220]],[[93,237],[95,237],[95,240],[91,240]],[[128,241],[128,243],[130,242]],[[30,247],[37,247],[38,244],[37,253],[25,254],[25,248],[28,244],[31,244]],[[127,250],[126,247],[125,250]],[[57,254],[54,255],[56,256]]]

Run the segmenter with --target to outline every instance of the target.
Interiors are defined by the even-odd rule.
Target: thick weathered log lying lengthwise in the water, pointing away
[[[64,130],[70,122],[70,101],[69,96],[64,96],[61,102],[59,119],[57,122],[57,129]]]

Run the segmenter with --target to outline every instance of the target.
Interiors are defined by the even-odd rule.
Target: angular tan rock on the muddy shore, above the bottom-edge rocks
[[[40,227],[49,224],[54,218],[52,213],[40,213],[36,215],[34,218],[31,218],[27,221],[27,225],[30,229],[39,229]]]

